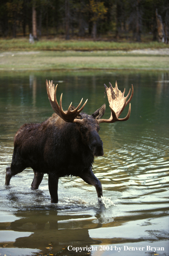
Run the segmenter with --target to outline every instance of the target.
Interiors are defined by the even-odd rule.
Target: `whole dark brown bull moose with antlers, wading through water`
[[[58,179],[64,176],[79,176],[87,184],[96,188],[97,196],[102,196],[102,184],[93,174],[94,157],[103,156],[103,143],[98,134],[100,123],[114,123],[126,121],[130,117],[131,103],[125,118],[118,118],[125,106],[131,101],[134,90],[132,85],[127,96],[116,85],[105,84],[105,93],[111,109],[109,119],[101,119],[105,113],[105,104],[93,114],[79,109],[82,100],[75,108],[72,103],[67,111],[62,108],[62,94],[60,104],[56,99],[57,85],[46,81],[47,94],[54,114],[42,123],[26,123],[20,127],[14,138],[14,152],[10,167],[6,168],[6,185],[12,176],[22,172],[27,167],[34,171],[32,189],[38,189],[44,173],[49,175],[48,185],[52,203],[58,203]]]

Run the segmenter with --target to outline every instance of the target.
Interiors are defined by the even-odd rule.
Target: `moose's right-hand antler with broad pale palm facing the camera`
[[[106,93],[108,96],[108,102],[110,104],[109,107],[111,109],[111,117],[109,119],[99,119],[98,122],[99,123],[114,123],[117,121],[128,120],[128,118],[130,117],[130,112],[131,112],[131,104],[129,105],[128,114],[126,115],[126,117],[125,118],[118,118],[118,117],[133,97],[133,93],[134,93],[133,84],[131,84],[131,86],[132,86],[131,96],[127,102],[126,102],[126,100],[130,94],[130,90],[128,92],[128,95],[126,97],[124,97],[125,89],[122,93],[117,87],[117,81],[116,81],[116,85],[114,88],[112,87],[111,83],[109,83],[109,85],[110,85],[110,87],[108,88],[104,84]]]

